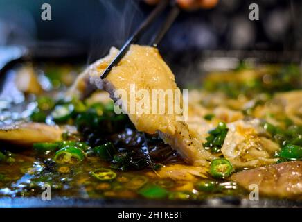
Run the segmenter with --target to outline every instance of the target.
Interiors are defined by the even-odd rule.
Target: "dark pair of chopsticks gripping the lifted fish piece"
[[[165,10],[168,6],[170,6],[171,8],[170,12],[161,27],[159,28],[159,32],[157,33],[157,35],[155,35],[154,39],[150,42],[151,46],[157,47],[163,36],[166,34],[166,32],[176,19],[177,15],[179,15],[180,10],[175,1],[162,0],[157,5],[157,7],[154,8],[154,10],[145,19],[141,26],[139,26],[139,28],[134,32],[134,34],[125,42],[125,44],[121,48],[121,51],[119,51],[118,55],[114,58],[114,60],[112,60],[112,62],[108,65],[103,74],[100,76],[101,79],[104,79],[106,78],[106,76],[108,76],[112,67],[116,66],[118,62],[121,61],[123,56],[125,56],[125,53],[127,53],[128,49],[130,48],[130,45],[135,44],[139,41],[141,35],[143,35],[146,28],[148,28],[157,19],[157,17],[161,15],[161,12],[163,12],[163,10]]]

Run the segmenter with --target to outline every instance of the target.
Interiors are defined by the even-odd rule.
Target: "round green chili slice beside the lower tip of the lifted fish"
[[[226,159],[216,159],[211,162],[210,174],[214,178],[227,178],[233,172],[233,166]]]

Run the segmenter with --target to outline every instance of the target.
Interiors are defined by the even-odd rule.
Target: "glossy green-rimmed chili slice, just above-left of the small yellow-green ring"
[[[85,154],[80,148],[66,146],[55,152],[54,160],[59,164],[76,164],[84,158]]]

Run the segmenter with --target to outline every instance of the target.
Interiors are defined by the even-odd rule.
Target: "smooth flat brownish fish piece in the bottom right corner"
[[[231,180],[249,189],[258,185],[260,195],[302,198],[302,161],[283,162],[233,173]]]

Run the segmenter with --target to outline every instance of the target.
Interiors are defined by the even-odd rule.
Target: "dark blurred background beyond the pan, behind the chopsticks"
[[[51,5],[51,21],[41,19],[43,3]],[[259,21],[249,20],[250,3],[258,3]],[[92,62],[120,47],[152,8],[139,0],[0,0],[0,46],[67,45]],[[187,51],[300,51],[301,14],[299,0],[220,0],[211,10],[182,12],[159,49],[168,58]]]

